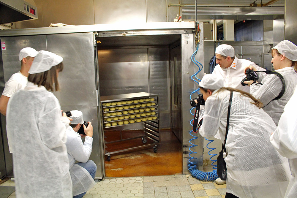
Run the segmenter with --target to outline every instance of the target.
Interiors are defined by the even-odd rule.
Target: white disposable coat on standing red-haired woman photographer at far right
[[[263,110],[268,113],[274,123],[278,125],[279,118],[284,112],[284,107],[293,95],[296,87],[297,74],[293,67],[285,67],[275,71],[279,72],[284,77],[286,83],[285,93],[280,99],[274,100],[282,90],[282,81],[274,74],[264,77],[263,74],[258,73],[260,77],[258,82],[261,82],[263,85],[252,84],[249,92],[263,103]]]

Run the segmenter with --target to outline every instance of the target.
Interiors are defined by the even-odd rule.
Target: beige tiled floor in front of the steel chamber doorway
[[[8,180],[1,186],[14,186],[14,182]],[[165,175],[104,178],[84,197],[224,198],[225,194],[226,184],[203,182],[191,175]],[[9,198],[15,198],[15,193]]]

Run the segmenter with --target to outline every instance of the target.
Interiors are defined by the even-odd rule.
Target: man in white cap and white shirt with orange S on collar
[[[217,66],[212,73],[223,77],[225,80],[224,87],[232,87],[249,93],[249,87],[242,86],[240,83],[246,77],[244,69],[248,66],[254,66],[257,70],[265,71],[249,60],[238,59],[231,45],[222,44],[216,47],[216,58]]]

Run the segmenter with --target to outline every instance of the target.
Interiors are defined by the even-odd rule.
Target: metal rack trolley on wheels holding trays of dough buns
[[[160,143],[159,130],[159,96],[157,94],[150,94],[146,92],[119,94],[112,96],[101,96],[101,110],[102,110],[102,128],[120,126],[120,140],[107,142],[104,140],[104,152],[107,160],[110,161],[110,155],[120,153],[137,148],[145,148],[154,146],[154,152],[157,153],[157,145]],[[122,117],[122,118],[121,118]],[[128,118],[129,117],[129,118]],[[143,123],[144,135],[122,139],[121,126]],[[105,136],[104,136],[105,137]],[[141,146],[135,146],[123,150],[108,152],[106,144],[113,142],[121,142],[125,140],[132,140],[141,138],[143,144],[147,142],[146,138],[153,140],[153,143]]]

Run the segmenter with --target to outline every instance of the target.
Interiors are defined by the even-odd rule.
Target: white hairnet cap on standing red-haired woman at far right
[[[291,41],[281,41],[275,47],[272,47],[272,49],[277,49],[280,54],[291,61],[297,61],[297,46]]]

